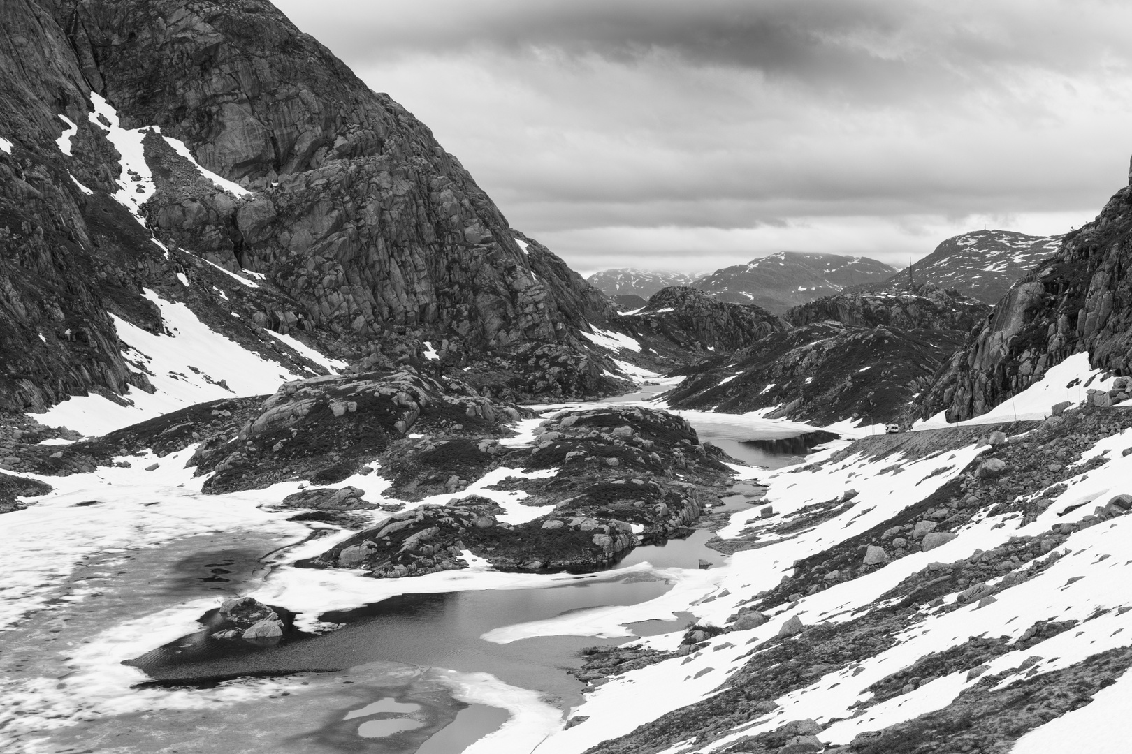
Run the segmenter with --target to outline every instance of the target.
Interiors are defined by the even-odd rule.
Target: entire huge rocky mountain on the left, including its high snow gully
[[[361,367],[426,343],[461,364],[547,347],[580,370],[560,389],[601,389],[576,333],[608,303],[521,248],[428,128],[269,3],[0,14],[0,407],[147,388],[108,314],[160,332],[144,289],[185,298],[178,275],[206,262],[261,278],[250,321],[188,296],[235,339],[305,333]]]

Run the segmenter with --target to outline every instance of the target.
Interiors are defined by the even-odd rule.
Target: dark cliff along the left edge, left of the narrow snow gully
[[[104,293],[119,280],[94,255],[100,248],[112,253],[123,239],[86,219],[125,210],[88,199],[68,174],[68,162],[78,162],[72,174],[87,185],[117,189],[109,171],[68,161],[57,146],[68,130],[58,113],[77,119],[86,86],[62,32],[35,3],[0,7],[0,407],[42,408],[91,388],[144,385],[122,359],[108,315],[113,302]],[[113,150],[94,133],[79,142],[86,153]],[[125,241],[149,244],[137,235]],[[128,305],[120,293],[113,297]]]

